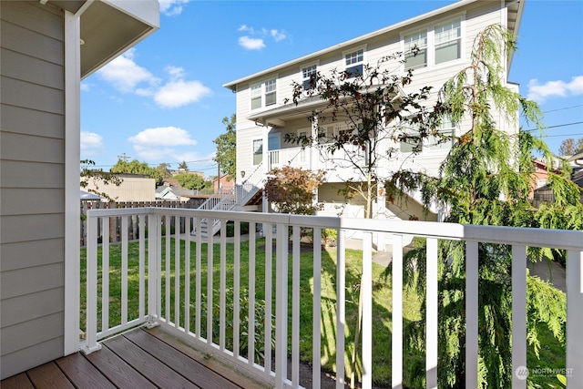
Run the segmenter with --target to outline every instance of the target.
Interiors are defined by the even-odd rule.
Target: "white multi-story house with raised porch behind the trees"
[[[362,217],[363,200],[355,199],[350,204],[344,204],[343,196],[338,194],[338,189],[343,188],[343,182],[347,179],[362,179],[355,175],[351,164],[343,163],[345,159],[341,152],[336,152],[332,157],[313,147],[302,149],[297,144],[283,141],[286,134],[307,134],[319,138],[324,134],[324,138],[331,138],[346,130],[342,122],[312,126],[308,120],[312,109],[310,102],[300,102],[297,106],[290,102],[285,104],[286,99],[292,98],[292,83],[303,83],[307,88],[311,75],[316,71],[327,74],[332,69],[357,68],[362,72],[365,64],[374,67],[382,56],[396,52],[409,53],[412,47],[417,46],[418,54],[407,56],[407,61],[397,72],[414,68],[413,83],[405,87],[405,91],[431,86],[434,91],[433,100],[429,101],[431,103],[445,81],[470,63],[475,37],[486,26],[504,26],[517,35],[524,3],[524,0],[462,0],[225,84],[224,87],[230,88],[237,96],[237,183],[245,184],[252,180],[260,183],[257,189],[261,189],[261,179],[268,171],[283,165],[325,169],[327,174],[317,194],[317,200],[324,203],[324,209],[319,214],[332,216],[342,210],[344,216]],[[503,64],[506,77],[511,59],[512,55]],[[504,83],[517,89],[517,85],[508,84],[506,79]],[[518,123],[509,124],[502,117],[496,119],[507,132],[517,131]],[[445,125],[442,130],[461,135],[467,129],[462,122],[458,128]],[[405,168],[428,174],[437,172],[451,148],[451,144],[436,143],[429,138],[424,141],[423,151],[411,158],[411,145],[393,142],[386,146],[395,148],[397,152],[392,159],[381,163],[379,169],[395,171]],[[411,195],[417,201],[398,204],[380,196],[373,206],[374,217],[437,219],[437,208],[425,215],[417,196]],[[247,196],[244,200],[250,198]],[[245,205],[244,200],[241,206]],[[269,210],[266,200],[263,200],[262,210]]]

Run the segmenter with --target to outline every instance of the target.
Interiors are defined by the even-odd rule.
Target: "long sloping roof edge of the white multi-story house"
[[[454,4],[446,5],[442,8],[436,9],[435,11],[431,11],[431,12],[428,12],[428,13],[423,14],[423,15],[412,17],[410,19],[405,20],[404,22],[396,23],[393,26],[387,26],[387,27],[381,28],[380,30],[373,31],[372,33],[365,34],[363,36],[355,37],[355,38],[347,40],[341,44],[326,47],[322,50],[316,51],[316,52],[309,54],[307,56],[301,56],[299,58],[295,58],[295,59],[292,59],[291,61],[285,62],[281,65],[278,65],[275,67],[270,67],[268,69],[261,70],[261,72],[252,74],[250,76],[239,78],[237,80],[234,80],[234,81],[231,81],[227,84],[224,84],[223,87],[228,87],[232,91],[236,91],[237,85],[240,83],[248,82],[251,79],[254,79],[257,77],[276,73],[277,71],[279,71],[285,67],[292,67],[292,66],[296,66],[296,65],[299,66],[303,62],[309,61],[315,57],[324,56],[328,53],[342,50],[343,48],[347,48],[349,46],[353,46],[355,44],[363,42],[367,39],[371,39],[374,36],[381,36],[383,34],[393,32],[395,30],[407,28],[407,26],[413,25],[414,23],[424,21],[425,19],[428,19],[428,18],[436,16],[436,15],[445,14],[445,13],[453,11],[457,8],[464,7],[465,5],[475,3],[476,1],[479,1],[479,0],[461,0],[461,1],[455,2]],[[520,26],[520,19],[522,18],[524,5],[525,5],[525,2],[523,0],[517,0],[516,2],[514,2],[514,4],[507,5],[507,7],[508,7],[507,27],[508,27],[508,30],[515,36],[517,36],[517,26]],[[512,54],[513,53],[510,53],[508,56],[508,58],[509,58],[508,72],[510,72],[510,64],[512,61]]]

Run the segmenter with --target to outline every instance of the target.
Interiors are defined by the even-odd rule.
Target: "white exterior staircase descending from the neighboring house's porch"
[[[262,173],[262,163],[253,170],[248,179],[245,179],[241,184],[236,184],[232,189],[219,189],[208,200],[200,204],[199,210],[241,210],[247,202],[263,189],[263,181],[265,177]],[[209,231],[212,235],[220,230],[220,220],[203,219],[200,221],[200,231],[193,230],[192,235],[200,232],[200,236],[209,236]]]

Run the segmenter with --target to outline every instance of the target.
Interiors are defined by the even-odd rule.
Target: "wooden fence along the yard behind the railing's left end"
[[[202,204],[206,199],[191,199],[189,201],[170,201],[170,200],[157,200],[157,201],[119,201],[119,202],[102,202],[102,201],[81,201],[81,235],[80,243],[81,247],[85,246],[87,243],[87,210],[112,210],[121,208],[179,208],[179,209],[198,209],[200,204]],[[148,225],[148,220],[146,221]],[[164,227],[164,226],[163,226]],[[101,222],[97,225],[98,235],[101,236]],[[110,241],[119,241],[121,229],[120,218],[111,218],[109,221],[109,239]],[[189,229],[188,229],[189,230]],[[186,226],[184,226],[184,220],[181,220],[180,233],[185,233],[187,231]],[[138,239],[138,220],[137,217],[133,216],[128,220],[128,237],[129,240]]]

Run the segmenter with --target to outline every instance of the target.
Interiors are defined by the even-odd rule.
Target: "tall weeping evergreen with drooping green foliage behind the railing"
[[[532,153],[542,154],[552,166],[553,158],[540,138],[519,131],[507,134],[499,126],[517,125],[521,113],[542,128],[541,113],[534,102],[506,87],[504,64],[516,42],[500,26],[488,26],[476,37],[472,64],[452,77],[439,91],[435,120],[447,118],[459,124],[469,121],[470,129],[456,138],[438,177],[399,171],[387,183],[395,195],[420,189],[425,204],[432,200],[446,206],[445,221],[462,224],[504,225],[581,229],[583,206],[579,189],[569,181],[569,171],[549,170],[549,186],[556,201],[535,209],[527,199],[534,180]],[[400,189],[400,190],[398,190]],[[558,215],[560,217],[557,217]],[[464,387],[465,374],[465,242],[440,241],[438,280],[440,315],[438,324],[439,385]],[[531,260],[552,258],[548,250],[528,249]],[[417,287],[424,292],[424,241],[405,257],[405,269],[417,264]],[[509,387],[511,372],[511,252],[507,246],[479,246],[478,380],[480,387]],[[414,280],[409,274],[408,280]],[[532,277],[528,284],[527,339],[538,353],[537,322],[547,322],[562,340],[565,324],[565,296]],[[418,340],[423,324],[408,328],[409,346],[422,353]]]

